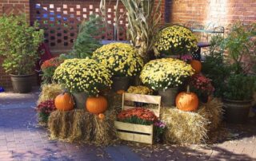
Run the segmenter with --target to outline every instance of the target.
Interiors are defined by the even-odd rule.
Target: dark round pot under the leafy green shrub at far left
[[[14,92],[26,93],[32,89],[32,78],[34,74],[13,75],[10,74],[10,80],[13,84]]]

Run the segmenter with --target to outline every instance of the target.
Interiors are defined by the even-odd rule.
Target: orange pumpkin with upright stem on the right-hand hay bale
[[[176,106],[178,109],[185,112],[192,112],[198,108],[198,96],[194,92],[190,92],[190,87],[187,86],[186,92],[180,92],[176,97]]]

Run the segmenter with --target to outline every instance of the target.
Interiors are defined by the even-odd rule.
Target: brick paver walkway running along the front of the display
[[[49,140],[37,126],[34,110],[38,92],[0,93],[0,161],[6,160],[256,160],[256,121],[226,125],[227,137],[216,132],[218,143],[94,147]],[[124,142],[125,143],[125,142]]]

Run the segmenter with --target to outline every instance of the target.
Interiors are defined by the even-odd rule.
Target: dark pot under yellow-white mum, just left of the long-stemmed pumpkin
[[[178,93],[178,88],[167,88],[165,91],[158,90],[158,95],[161,96],[162,105],[171,107],[175,105],[175,98]]]

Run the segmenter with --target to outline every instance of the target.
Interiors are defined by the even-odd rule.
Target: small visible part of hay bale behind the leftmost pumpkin
[[[38,104],[46,100],[54,100],[62,92],[60,84],[43,84],[39,95]]]

